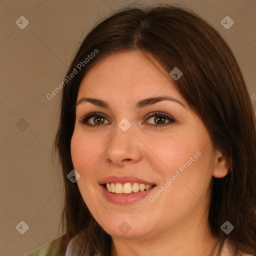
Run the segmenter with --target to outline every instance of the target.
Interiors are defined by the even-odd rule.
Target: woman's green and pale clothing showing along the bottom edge
[[[44,245],[34,249],[33,251],[31,251],[29,254],[25,256],[77,256],[76,254],[73,254],[73,255],[71,254],[73,239],[69,241],[65,254],[60,255],[58,251],[58,248],[59,248],[58,243],[60,241],[60,238],[61,236],[48,241]],[[220,246],[219,243],[215,246],[212,256],[216,255],[216,252],[219,246]],[[220,252],[220,256],[233,256],[233,255],[234,255],[234,248],[225,240]],[[253,256],[253,255],[242,254],[242,256]]]

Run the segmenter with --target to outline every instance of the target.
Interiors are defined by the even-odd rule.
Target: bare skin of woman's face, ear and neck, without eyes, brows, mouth
[[[141,99],[163,95],[174,97],[184,106],[162,100],[134,108]],[[211,255],[216,243],[207,222],[211,181],[213,176],[225,176],[229,165],[222,153],[213,149],[203,122],[174,88],[173,81],[140,51],[118,52],[92,66],[81,81],[77,102],[82,97],[105,100],[111,107],[78,104],[70,145],[83,200],[112,237],[111,256]],[[171,115],[175,122],[165,119],[166,125],[156,127],[161,120],[155,121],[154,116],[147,119],[148,113],[156,111]],[[94,127],[79,123],[91,112],[103,113],[103,124],[95,124],[94,117],[88,120]],[[118,126],[123,118],[131,123],[125,132]],[[148,196],[154,195],[197,151],[201,155],[150,202]],[[114,204],[105,199],[99,186],[108,175],[135,176],[155,183],[157,188],[135,203]],[[127,233],[118,228],[123,221],[131,227]]]

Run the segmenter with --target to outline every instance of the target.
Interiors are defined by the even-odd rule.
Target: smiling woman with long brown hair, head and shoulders
[[[256,254],[254,112],[207,22],[167,4],[119,10],[62,85],[66,233],[29,256]]]

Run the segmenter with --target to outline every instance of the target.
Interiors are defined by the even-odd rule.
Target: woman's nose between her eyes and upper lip
[[[132,164],[142,158],[141,141],[133,134],[131,127],[123,131],[116,125],[111,133],[111,138],[104,147],[104,159],[113,165],[123,166]]]

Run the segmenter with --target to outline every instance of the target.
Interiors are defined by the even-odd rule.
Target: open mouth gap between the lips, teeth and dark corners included
[[[126,182],[126,183],[107,182],[102,184],[102,186],[108,192],[111,192],[113,194],[128,195],[128,194],[135,194],[135,193],[152,189],[155,186],[155,184],[145,184],[145,183],[138,183],[138,182]]]

